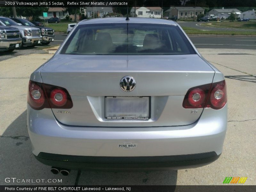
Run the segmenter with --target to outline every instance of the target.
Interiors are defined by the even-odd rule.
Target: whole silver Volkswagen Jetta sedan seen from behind
[[[30,77],[33,154],[54,173],[202,166],[226,128],[223,74],[170,20],[81,21]]]

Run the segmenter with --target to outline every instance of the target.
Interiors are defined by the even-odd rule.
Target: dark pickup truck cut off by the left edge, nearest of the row
[[[0,26],[0,51],[12,52],[19,49],[21,41],[19,29]]]

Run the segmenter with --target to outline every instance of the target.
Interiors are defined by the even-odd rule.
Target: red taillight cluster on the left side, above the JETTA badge
[[[73,103],[65,88],[29,81],[28,104],[31,108],[72,108]]]

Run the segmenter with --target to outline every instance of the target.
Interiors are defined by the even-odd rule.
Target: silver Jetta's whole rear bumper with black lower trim
[[[170,127],[68,126],[59,123],[51,109],[34,110],[28,105],[27,113],[36,158],[70,169],[93,165],[105,169],[103,162],[109,162],[107,167],[112,170],[126,165],[156,169],[202,166],[220,156],[227,129],[227,105],[220,110],[205,108],[193,124]],[[124,143],[133,147],[120,147]]]

